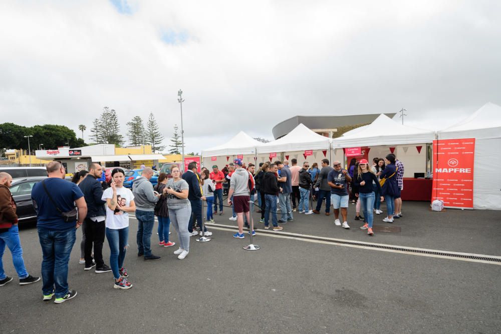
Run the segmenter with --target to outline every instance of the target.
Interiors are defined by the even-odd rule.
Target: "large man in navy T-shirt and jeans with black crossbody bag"
[[[48,178],[32,190],[33,205],[38,213],[37,230],[42,246],[42,291],[44,300],[56,295],[55,303],[62,303],[77,295],[68,288],[68,261],[76,239],[76,229],[87,216],[87,204],[80,188],[66,181],[66,171],[59,161],[47,164]],[[78,208],[78,221],[65,221],[63,213]],[[68,220],[68,219],[66,219]]]

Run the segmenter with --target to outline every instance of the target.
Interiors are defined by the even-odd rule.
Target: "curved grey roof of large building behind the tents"
[[[393,118],[396,113],[386,113]],[[281,138],[303,123],[309,129],[336,129],[342,126],[372,123],[379,114],[346,115],[346,116],[294,116],[273,127],[275,139]]]

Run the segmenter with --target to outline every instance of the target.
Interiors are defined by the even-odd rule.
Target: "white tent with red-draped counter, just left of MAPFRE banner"
[[[332,140],[333,160],[345,161],[343,148],[362,147],[369,150],[367,158],[384,158],[393,153],[404,163],[404,200],[431,200],[432,181],[415,179],[414,173],[424,173],[431,168],[428,144],[435,139],[432,130],[417,129],[395,122],[381,114],[369,125],[354,129]],[[350,158],[348,157],[348,160]],[[409,186],[405,187],[405,184]]]

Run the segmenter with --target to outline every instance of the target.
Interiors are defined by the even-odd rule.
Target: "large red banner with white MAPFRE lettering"
[[[473,208],[475,138],[433,141],[433,192],[447,208]]]

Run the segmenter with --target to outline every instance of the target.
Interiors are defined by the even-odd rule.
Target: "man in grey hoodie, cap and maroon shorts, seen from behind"
[[[242,168],[242,161],[240,159],[235,159],[234,164],[236,165],[236,170],[231,174],[231,180],[229,182],[229,192],[228,192],[228,204],[233,203],[233,208],[236,213],[236,222],[238,224],[238,232],[233,234],[234,238],[243,239],[243,214],[250,221],[249,216],[249,172]],[[232,198],[233,196],[233,198]],[[252,231],[253,235],[256,234]]]

